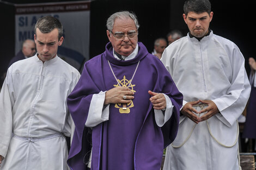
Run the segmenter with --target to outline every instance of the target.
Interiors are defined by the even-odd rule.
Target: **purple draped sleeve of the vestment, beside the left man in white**
[[[92,147],[90,141],[87,140],[87,136],[92,134],[92,130],[85,126],[89,107],[94,94],[100,93],[101,90],[106,91],[105,85],[102,83],[102,70],[100,69],[102,64],[99,60],[94,61],[95,57],[94,60],[89,60],[84,64],[81,78],[67,100],[70,114],[75,123],[68,158],[68,165],[71,169],[78,167],[87,169],[87,166],[83,163],[83,158]],[[90,62],[93,62],[93,66],[90,65]],[[97,129],[97,127],[94,128]]]

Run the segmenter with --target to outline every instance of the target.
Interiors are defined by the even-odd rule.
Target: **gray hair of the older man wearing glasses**
[[[121,12],[115,12],[114,14],[112,14],[108,19],[107,19],[107,29],[112,31],[113,29],[113,26],[114,26],[114,21],[116,18],[121,18],[121,19],[124,19],[124,18],[131,18],[134,23],[135,23],[135,26],[137,28],[137,31],[139,29],[139,23],[138,23],[138,19],[137,19],[137,16],[133,13],[133,12],[129,12],[129,11],[121,11]]]

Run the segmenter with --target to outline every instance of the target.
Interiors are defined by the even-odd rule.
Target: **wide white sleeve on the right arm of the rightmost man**
[[[235,46],[230,55],[233,68],[230,87],[226,95],[212,100],[221,113],[216,116],[228,127],[231,127],[242,114],[251,92],[242,53]]]

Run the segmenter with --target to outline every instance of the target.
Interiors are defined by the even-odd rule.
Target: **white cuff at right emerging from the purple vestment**
[[[164,123],[166,123],[170,119],[170,117],[173,115],[173,103],[167,95],[165,95],[165,94],[163,94],[163,95],[166,98],[166,110],[165,110],[164,114],[163,114],[162,110],[154,109],[156,124],[159,127],[162,127],[164,125]]]

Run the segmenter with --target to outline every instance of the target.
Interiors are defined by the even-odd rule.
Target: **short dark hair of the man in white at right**
[[[184,3],[183,10],[186,16],[188,12],[196,12],[197,14],[207,12],[210,15],[211,3],[209,0],[188,0]]]

